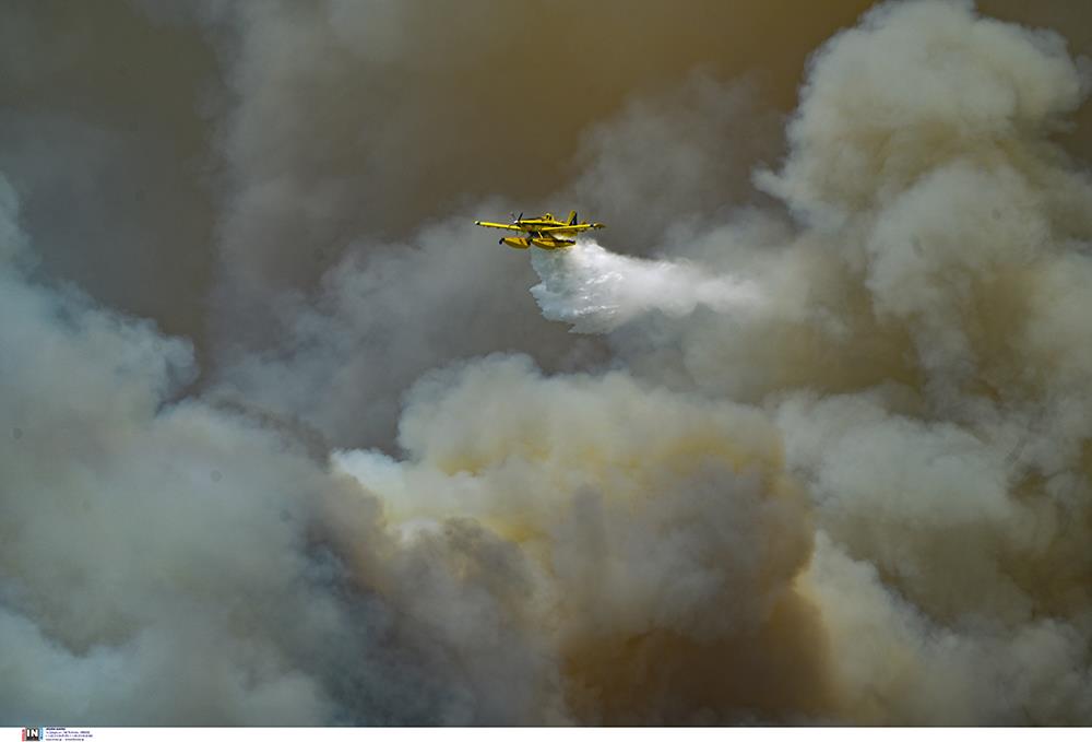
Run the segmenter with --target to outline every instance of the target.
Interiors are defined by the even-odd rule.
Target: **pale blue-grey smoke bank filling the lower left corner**
[[[471,522],[402,545],[380,504],[290,429],[171,401],[197,372],[189,343],[29,280],[16,203],[0,181],[0,717],[561,718],[537,703],[548,668],[533,640],[447,620],[503,615],[519,554]]]

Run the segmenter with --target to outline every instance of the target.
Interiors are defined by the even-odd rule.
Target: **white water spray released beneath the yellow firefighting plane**
[[[609,332],[649,311],[685,317],[698,306],[728,313],[757,305],[758,285],[734,275],[710,275],[698,266],[617,255],[596,243],[566,250],[532,250],[543,280],[531,288],[547,319],[572,332]]]

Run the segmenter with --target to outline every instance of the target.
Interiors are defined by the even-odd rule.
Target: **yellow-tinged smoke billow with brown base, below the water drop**
[[[518,605],[494,605],[497,620],[543,643],[573,720],[827,709],[817,614],[794,586],[811,550],[808,507],[759,411],[496,357],[419,384],[400,441],[402,463],[336,461],[385,504],[410,550],[461,538],[450,522],[466,520],[514,546],[505,561],[531,578]],[[476,569],[451,568],[460,589],[480,589]],[[490,580],[514,570],[487,569]]]

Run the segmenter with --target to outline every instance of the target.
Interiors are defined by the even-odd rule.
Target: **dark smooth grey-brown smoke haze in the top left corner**
[[[0,170],[43,271],[203,349],[213,281],[209,40],[127,2],[8,2]]]

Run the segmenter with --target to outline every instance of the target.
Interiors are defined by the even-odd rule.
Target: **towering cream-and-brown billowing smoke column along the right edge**
[[[1089,718],[1092,192],[1051,141],[1087,90],[1055,34],[877,9],[814,58],[791,153],[758,176],[805,228],[709,237],[764,302],[616,342],[774,415],[847,718]]]

